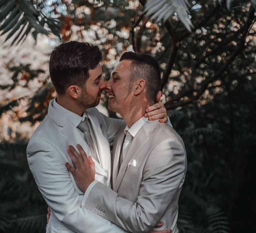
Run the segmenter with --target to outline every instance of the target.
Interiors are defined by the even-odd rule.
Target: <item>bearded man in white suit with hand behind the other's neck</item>
[[[36,184],[51,209],[47,233],[125,232],[81,206],[80,191],[65,162],[71,160],[66,147],[79,143],[95,163],[95,178],[110,186],[110,144],[125,123],[99,113],[106,82],[102,79],[101,52],[90,43],[68,42],[56,47],[50,58],[50,76],[57,98],[49,104],[48,115],[38,126],[27,146],[27,159]],[[149,107],[152,119],[164,118],[163,104]],[[160,109],[160,114],[159,114]],[[156,115],[156,116],[152,116]],[[110,143],[110,144],[109,144]],[[101,216],[105,213],[98,211]]]

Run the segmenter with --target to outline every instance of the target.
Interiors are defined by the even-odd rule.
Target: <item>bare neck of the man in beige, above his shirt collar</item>
[[[129,127],[131,127],[137,120],[144,116],[148,103],[143,101],[136,103],[134,106],[130,106],[130,109],[120,113],[125,122]]]

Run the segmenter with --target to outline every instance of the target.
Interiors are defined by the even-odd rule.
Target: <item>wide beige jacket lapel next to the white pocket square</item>
[[[137,132],[135,137],[132,140],[132,143],[124,157],[124,160],[121,164],[120,170],[117,175],[116,182],[114,183],[113,190],[117,192],[121,181],[123,179],[124,173],[126,171],[126,168],[131,161],[131,159],[135,156],[135,154],[139,151],[139,149],[145,144],[145,142],[148,139],[148,134],[150,134],[155,127],[159,124],[158,120],[153,120],[153,121],[147,121]],[[144,156],[141,154],[140,156]]]

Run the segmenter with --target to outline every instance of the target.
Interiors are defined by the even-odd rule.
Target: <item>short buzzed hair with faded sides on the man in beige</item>
[[[130,60],[131,76],[130,82],[137,79],[146,81],[146,98],[148,101],[155,103],[156,95],[160,91],[161,73],[158,62],[151,56],[144,53],[125,52],[120,58],[122,60]]]

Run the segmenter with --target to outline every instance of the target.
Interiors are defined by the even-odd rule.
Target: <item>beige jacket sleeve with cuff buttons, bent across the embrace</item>
[[[135,203],[118,197],[110,188],[96,183],[82,205],[93,210],[99,206],[104,218],[131,232],[148,232],[164,215],[185,177],[185,149],[175,140],[158,143],[143,169],[139,196]],[[129,185],[127,185],[127,192]]]

